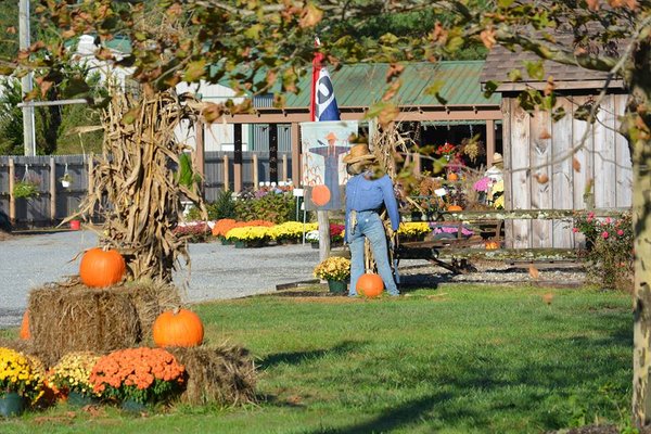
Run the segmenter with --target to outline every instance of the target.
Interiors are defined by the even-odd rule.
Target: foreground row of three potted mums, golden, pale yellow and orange
[[[99,356],[69,353],[48,372],[42,363],[0,348],[0,416],[65,397],[71,405],[119,403],[127,410],[165,403],[184,385],[186,369],[163,348],[127,348]]]

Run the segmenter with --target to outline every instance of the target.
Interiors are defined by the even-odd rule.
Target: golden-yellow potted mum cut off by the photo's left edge
[[[41,378],[29,358],[0,347],[0,416],[21,414],[28,403],[38,399],[41,388]]]

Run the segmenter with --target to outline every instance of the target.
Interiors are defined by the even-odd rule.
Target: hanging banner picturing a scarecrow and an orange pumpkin
[[[348,139],[357,133],[357,120],[301,123],[302,183],[307,209],[344,208],[344,187],[348,174],[342,158],[350,149]]]

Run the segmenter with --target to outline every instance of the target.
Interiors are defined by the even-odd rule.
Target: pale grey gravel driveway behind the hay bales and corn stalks
[[[76,275],[75,256],[97,245],[91,231],[14,235],[0,242],[0,328],[20,323],[29,290]],[[220,243],[190,244],[191,272],[175,275],[186,302],[237,298],[314,279],[318,250],[309,244],[234,248]]]

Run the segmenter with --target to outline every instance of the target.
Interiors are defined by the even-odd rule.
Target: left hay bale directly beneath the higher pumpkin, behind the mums
[[[34,346],[47,365],[69,352],[108,353],[141,340],[138,311],[124,286],[49,284],[31,290],[28,308]]]

